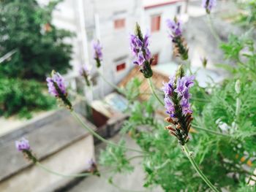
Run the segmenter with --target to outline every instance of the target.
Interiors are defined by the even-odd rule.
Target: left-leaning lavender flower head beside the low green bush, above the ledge
[[[67,99],[67,91],[64,78],[58,72],[51,72],[51,77],[47,77],[48,91],[52,96],[61,99],[69,110],[72,110],[72,104]]]

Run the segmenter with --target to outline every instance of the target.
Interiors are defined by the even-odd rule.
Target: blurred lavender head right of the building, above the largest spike
[[[173,20],[166,20],[167,27],[170,28],[170,39],[172,39],[173,45],[174,45],[174,53],[177,56],[181,56],[183,60],[187,60],[188,58],[188,49],[187,44],[182,37],[182,31],[181,31],[181,21],[177,18],[174,18]]]

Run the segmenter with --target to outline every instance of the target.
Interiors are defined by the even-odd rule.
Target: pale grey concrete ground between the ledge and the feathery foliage
[[[120,135],[116,135],[111,140],[113,142],[118,142]],[[127,147],[132,147],[134,149],[139,149],[138,145],[128,136],[124,137]],[[105,145],[101,143],[96,147],[96,156],[99,158],[99,151],[104,149]],[[129,151],[127,153],[128,157],[138,155],[136,152]],[[120,188],[116,188],[108,183],[109,173],[103,174],[103,177],[87,177],[86,179],[80,181],[77,185],[72,188],[66,188],[61,190],[61,192],[120,192],[120,191],[151,191],[143,188],[143,179],[145,174],[141,166],[141,158],[135,158],[132,160],[132,165],[135,167],[131,174],[115,174],[113,177],[113,183],[118,185]],[[100,169],[101,167],[99,167]],[[102,169],[105,169],[102,167]],[[154,188],[154,192],[162,192],[162,188]]]

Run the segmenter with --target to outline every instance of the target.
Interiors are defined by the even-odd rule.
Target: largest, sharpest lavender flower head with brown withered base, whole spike
[[[166,128],[178,138],[181,145],[188,142],[189,128],[192,121],[192,109],[189,104],[191,94],[189,88],[194,85],[194,76],[184,76],[184,69],[181,66],[174,77],[170,77],[169,82],[164,83],[162,91],[165,93],[165,109],[169,116],[167,122],[171,126]]]

